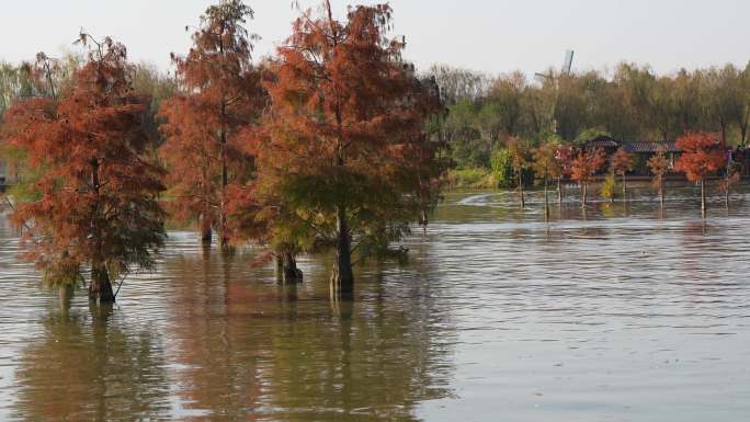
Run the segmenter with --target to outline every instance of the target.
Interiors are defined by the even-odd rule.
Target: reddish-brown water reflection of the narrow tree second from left
[[[169,262],[178,293],[171,333],[181,399],[180,419],[251,420],[258,406],[258,353],[242,313],[252,304],[232,282],[235,258],[207,253]],[[246,304],[242,307],[240,304]],[[235,318],[237,317],[237,318]]]

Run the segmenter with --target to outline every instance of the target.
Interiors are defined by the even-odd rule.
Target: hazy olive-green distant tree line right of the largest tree
[[[433,66],[430,75],[448,109],[441,134],[458,169],[489,169],[493,149],[510,138],[533,147],[552,138],[675,140],[709,132],[746,146],[750,136],[750,62],[666,76],[634,64],[611,75],[550,70],[534,80],[518,71],[496,77],[448,66]]]

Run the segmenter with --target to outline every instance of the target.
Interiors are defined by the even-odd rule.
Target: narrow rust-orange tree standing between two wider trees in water
[[[172,210],[180,220],[197,219],[202,239],[212,227],[227,247],[229,191],[252,176],[242,130],[258,122],[266,95],[261,71],[251,62],[254,34],[243,24],[252,10],[240,0],[209,7],[193,33],[188,56],[172,55],[179,91],[160,107],[166,141],[160,157],[170,170]]]

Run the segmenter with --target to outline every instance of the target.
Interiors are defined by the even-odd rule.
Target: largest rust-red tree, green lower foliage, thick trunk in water
[[[383,251],[433,196],[425,182],[442,167],[424,124],[439,104],[401,61],[404,43],[386,39],[388,5],[355,7],[345,21],[328,1],[322,11],[303,12],[279,48],[258,171],[288,214],[336,246],[332,287],[350,294],[352,241]]]

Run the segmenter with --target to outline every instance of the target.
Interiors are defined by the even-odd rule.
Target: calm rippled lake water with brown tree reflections
[[[0,217],[0,421],[747,421],[750,196],[448,194],[410,262],[329,299],[170,232],[112,309],[45,288]],[[697,197],[697,196],[695,196]],[[718,201],[718,198],[716,198]]]

